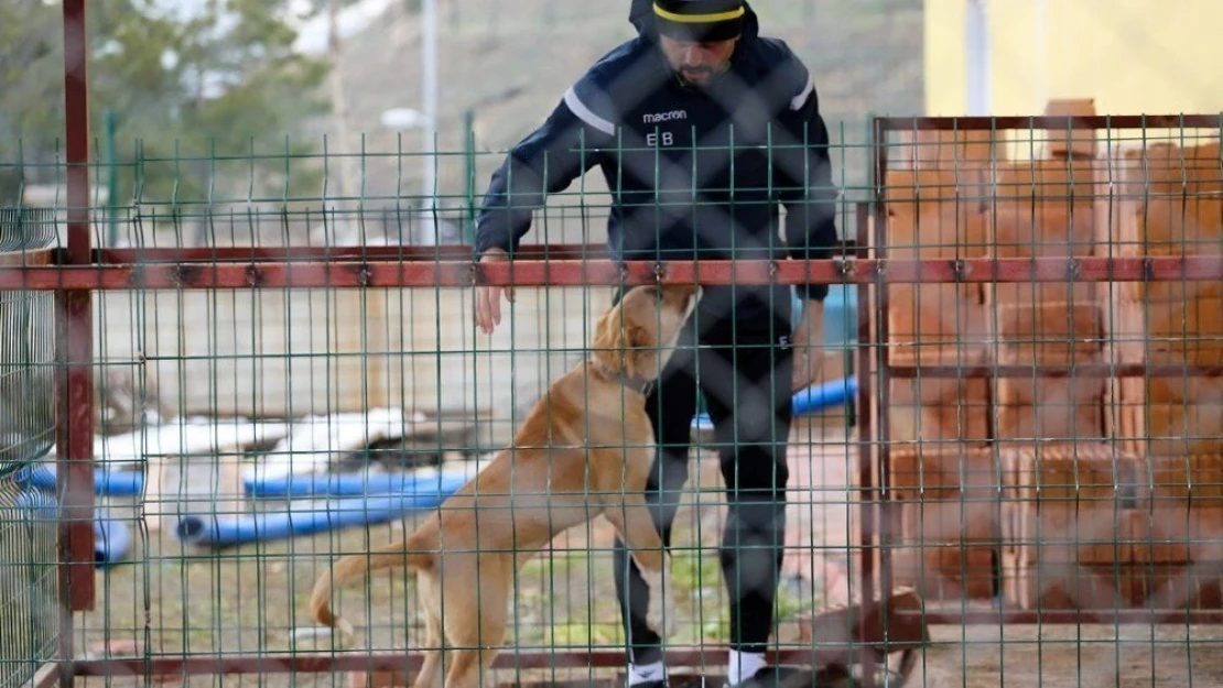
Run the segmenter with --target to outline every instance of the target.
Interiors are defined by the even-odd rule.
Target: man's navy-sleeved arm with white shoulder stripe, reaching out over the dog
[[[495,172],[476,219],[476,255],[499,248],[512,255],[547,194],[564,191],[598,163],[604,131],[588,123],[574,90],[536,131],[515,145]],[[575,114],[575,109],[586,117]],[[597,123],[604,122],[596,120]]]

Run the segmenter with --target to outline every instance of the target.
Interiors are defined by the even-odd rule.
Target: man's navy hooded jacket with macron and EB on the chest
[[[512,255],[545,196],[598,166],[613,199],[608,248],[616,259],[828,258],[838,191],[807,68],[784,42],[759,35],[748,6],[728,70],[686,84],[658,45],[653,16],[651,0],[634,0],[637,37],[577,79],[493,174],[476,220],[477,255],[494,247]],[[702,301],[724,302],[717,292],[731,288],[736,318],[778,297],[789,308],[784,286],[780,295],[707,288]],[[828,287],[800,291],[822,301]]]

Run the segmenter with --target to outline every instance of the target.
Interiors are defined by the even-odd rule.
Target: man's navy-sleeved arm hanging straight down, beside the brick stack
[[[774,128],[773,167],[778,199],[785,207],[785,243],[790,258],[822,260],[837,248],[837,200],[828,127],[807,70],[794,66],[796,84],[780,126]],[[801,86],[799,86],[801,84]],[[808,301],[823,302],[828,285],[800,285]]]

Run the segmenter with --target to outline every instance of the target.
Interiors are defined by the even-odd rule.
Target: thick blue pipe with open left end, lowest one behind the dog
[[[347,497],[322,508],[292,510],[284,513],[258,516],[185,516],[179,519],[175,534],[183,544],[224,547],[309,535],[349,525],[382,523],[402,513],[434,508],[467,484],[466,472],[422,479],[416,492]],[[428,483],[428,489],[424,488]]]

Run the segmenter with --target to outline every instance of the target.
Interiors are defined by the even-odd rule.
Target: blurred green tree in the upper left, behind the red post
[[[317,193],[318,172],[301,156],[317,148],[306,125],[328,111],[327,62],[294,50],[296,33],[281,18],[289,4],[207,0],[187,16],[154,0],[89,4],[94,155],[105,153],[99,134],[111,111],[124,204],[172,211]],[[60,17],[44,0],[0,6],[0,39],[24,62],[0,70],[0,159],[15,160],[7,142],[20,139],[27,181],[55,181],[28,164],[54,161],[62,138]],[[267,158],[252,163],[252,153]]]

